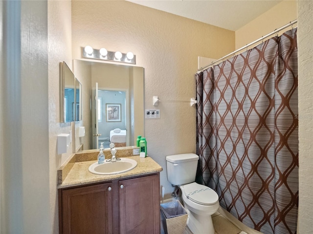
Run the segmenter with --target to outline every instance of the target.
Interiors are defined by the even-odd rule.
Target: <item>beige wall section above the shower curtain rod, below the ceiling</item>
[[[284,0],[235,32],[236,49],[257,40],[296,19],[297,1]],[[291,29],[291,27],[285,29],[285,31],[289,29]],[[249,48],[252,47],[253,46]]]

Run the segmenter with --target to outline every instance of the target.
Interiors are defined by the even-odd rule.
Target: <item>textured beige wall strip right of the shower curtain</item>
[[[313,232],[313,1],[298,1],[299,234]]]

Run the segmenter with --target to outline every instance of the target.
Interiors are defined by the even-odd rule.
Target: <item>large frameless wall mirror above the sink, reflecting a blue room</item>
[[[137,135],[144,135],[143,67],[84,60],[73,64],[84,103],[79,125],[85,127],[85,136],[75,137],[76,149],[99,149],[101,142],[104,148],[111,142],[135,146]]]

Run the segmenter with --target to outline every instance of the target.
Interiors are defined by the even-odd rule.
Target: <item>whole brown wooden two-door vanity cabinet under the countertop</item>
[[[159,234],[159,173],[59,190],[60,234]]]

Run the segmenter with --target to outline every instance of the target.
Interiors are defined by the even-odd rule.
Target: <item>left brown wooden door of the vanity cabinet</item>
[[[112,183],[62,191],[63,234],[112,234]]]

